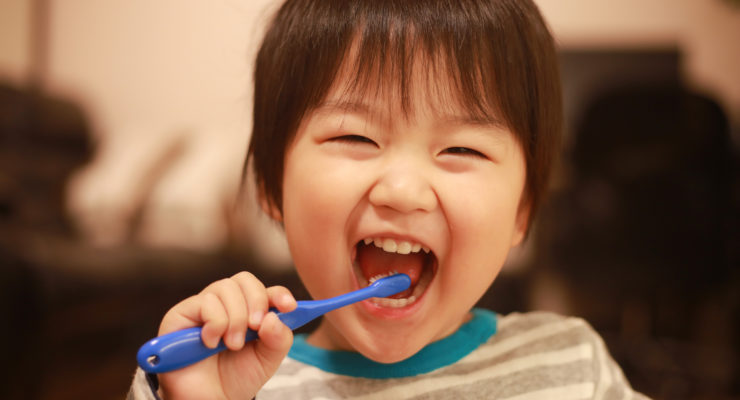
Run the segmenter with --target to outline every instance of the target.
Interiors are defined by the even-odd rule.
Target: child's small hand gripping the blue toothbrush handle
[[[214,282],[170,309],[159,335],[202,326],[201,338],[222,351],[189,367],[159,374],[165,399],[251,399],[275,373],[293,343],[293,332],[268,307],[292,311],[296,301],[281,286],[265,288],[254,275],[240,272]],[[247,328],[259,340],[244,343]]]

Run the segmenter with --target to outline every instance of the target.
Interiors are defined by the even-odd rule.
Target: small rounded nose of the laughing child
[[[402,213],[433,210],[437,195],[423,170],[408,161],[387,165],[370,189],[370,203]]]

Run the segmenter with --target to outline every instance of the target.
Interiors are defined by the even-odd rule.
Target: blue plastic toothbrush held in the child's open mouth
[[[408,275],[396,274],[378,279],[368,287],[330,299],[298,301],[295,310],[276,314],[285,325],[295,330],[329,311],[371,297],[388,297],[408,289],[409,286],[411,278]],[[200,339],[201,329],[201,327],[182,329],[149,340],[136,354],[139,366],[149,373],[170,372],[226,350],[223,340],[213,349],[206,347]],[[257,339],[257,332],[248,329],[244,341],[254,339]]]

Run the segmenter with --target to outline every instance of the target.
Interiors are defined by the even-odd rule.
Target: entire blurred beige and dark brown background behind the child
[[[656,399],[740,398],[739,2],[537,2],[564,153],[481,305],[586,318]],[[0,398],[123,398],[166,310],[242,269],[307,297],[239,196],[278,3],[0,0]]]

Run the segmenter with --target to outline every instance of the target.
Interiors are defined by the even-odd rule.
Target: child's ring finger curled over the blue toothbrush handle
[[[226,310],[228,327],[224,334],[224,343],[231,350],[244,347],[247,334],[247,303],[239,284],[233,279],[222,279],[209,285],[204,292],[215,294]]]

